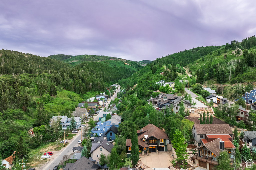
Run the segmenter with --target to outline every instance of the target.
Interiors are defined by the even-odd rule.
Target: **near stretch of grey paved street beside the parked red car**
[[[73,147],[78,147],[79,143],[77,141],[81,139],[81,131],[77,133],[77,135],[74,137],[74,139],[69,139],[68,140],[68,146],[65,148],[61,148],[59,153],[55,158],[50,158],[50,161],[42,165],[38,170],[53,170],[53,168],[59,164],[59,162],[62,160],[64,155],[70,155],[73,151]]]

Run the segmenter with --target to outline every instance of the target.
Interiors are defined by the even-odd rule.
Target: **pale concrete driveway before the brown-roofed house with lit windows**
[[[173,157],[170,156],[171,154],[171,151],[151,152],[149,156],[146,154],[144,156],[140,155],[140,160],[143,164],[151,168],[168,168],[172,165],[172,163],[170,163],[170,161],[173,160]]]

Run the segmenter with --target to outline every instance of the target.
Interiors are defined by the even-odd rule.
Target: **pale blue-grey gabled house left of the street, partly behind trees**
[[[74,119],[76,120],[76,128],[79,128],[81,126],[81,118],[74,117]],[[57,122],[58,120],[60,120],[62,129],[67,129],[67,127],[69,127],[71,118],[68,118],[67,116],[52,116],[49,123],[50,127],[53,122]]]

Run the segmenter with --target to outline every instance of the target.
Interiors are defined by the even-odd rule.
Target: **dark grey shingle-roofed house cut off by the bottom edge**
[[[75,163],[67,163],[64,170],[98,170],[99,166],[86,157],[78,159]]]

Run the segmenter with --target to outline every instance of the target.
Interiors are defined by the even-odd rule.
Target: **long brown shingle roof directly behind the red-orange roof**
[[[197,134],[233,134],[228,124],[194,124]]]

